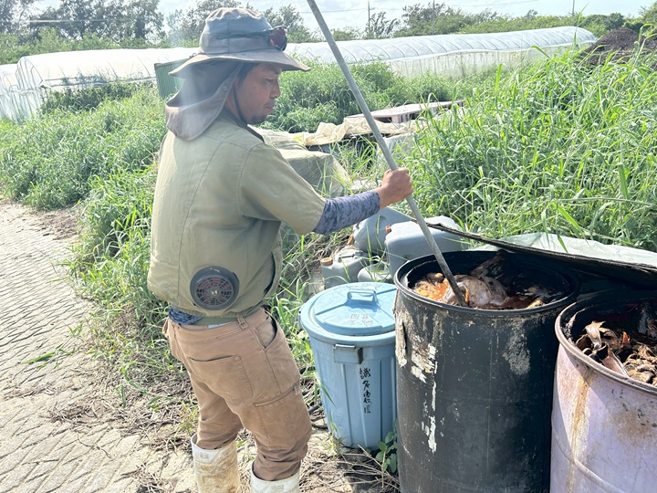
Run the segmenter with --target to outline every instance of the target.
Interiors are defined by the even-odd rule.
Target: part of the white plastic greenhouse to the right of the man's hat
[[[347,63],[382,61],[405,77],[425,72],[460,78],[499,65],[518,64],[554,55],[568,47],[586,47],[596,37],[580,27],[562,26],[506,33],[394,37],[339,41]],[[540,49],[537,49],[540,48]],[[290,45],[287,52],[298,58],[335,63],[328,43]]]

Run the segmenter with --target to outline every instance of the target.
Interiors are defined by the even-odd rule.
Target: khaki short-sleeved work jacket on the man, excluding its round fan
[[[323,211],[324,199],[280,152],[225,111],[193,141],[169,132],[155,186],[148,287],[205,323],[250,314],[276,290],[281,222],[306,234]],[[191,282],[217,266],[235,274],[239,289],[230,306],[205,309]]]

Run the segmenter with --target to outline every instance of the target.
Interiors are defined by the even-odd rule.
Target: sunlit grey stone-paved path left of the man
[[[69,241],[0,202],[0,493],[195,491],[188,453],[152,450],[110,418],[75,333],[89,304],[60,263]]]

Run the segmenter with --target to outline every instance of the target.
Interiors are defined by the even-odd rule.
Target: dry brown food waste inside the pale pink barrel
[[[574,344],[612,372],[657,386],[657,313],[652,303],[641,301],[626,314],[591,321]]]

